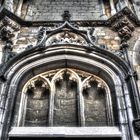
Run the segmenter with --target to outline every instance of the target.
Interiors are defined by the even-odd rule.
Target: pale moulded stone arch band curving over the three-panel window
[[[130,101],[128,102],[130,97],[128,94],[129,91],[127,89],[127,84],[123,80],[125,74],[122,73],[117,65],[112,63],[110,60],[103,58],[103,56],[99,56],[97,52],[88,54],[82,47],[77,48],[76,50],[74,50],[74,48],[75,46],[70,46],[70,48],[67,46],[67,49],[61,45],[50,46],[46,51],[44,51],[44,53],[40,51],[35,52],[34,55],[30,53],[29,56],[26,55],[23,58],[20,58],[14,66],[9,67],[6,72],[8,81],[2,86],[2,89],[7,92],[7,96],[9,97],[5,100],[5,103],[7,104],[9,99],[11,100],[11,102],[9,102],[10,104],[7,104],[7,109],[9,108],[9,110],[12,110],[19,82],[25,74],[32,71],[31,76],[33,76],[33,73],[36,75],[41,73],[41,71],[54,68],[78,68],[98,75],[108,83],[112,94],[115,94],[116,96],[118,120],[120,124],[119,127],[122,131],[123,139],[128,139],[130,132],[128,132],[127,125],[132,125],[133,114],[131,103]],[[10,84],[13,86],[8,87]],[[4,87],[9,88],[9,90],[6,88],[4,89]],[[11,97],[14,98],[11,99]],[[125,102],[125,100],[127,100],[127,102]],[[128,108],[128,111],[123,108]],[[5,120],[3,121],[7,122],[7,119],[10,120],[11,115],[12,112],[5,112]],[[8,124],[5,125],[3,127],[3,131],[8,131],[9,127],[10,126]],[[133,130],[130,131],[133,133]],[[128,136],[126,133],[128,133]],[[134,133],[133,136],[135,137]]]

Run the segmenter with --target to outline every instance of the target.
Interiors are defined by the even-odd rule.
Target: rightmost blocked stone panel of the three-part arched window
[[[92,82],[91,88],[87,90],[84,95],[85,104],[85,125],[86,126],[106,126],[106,105],[105,94],[103,91],[99,92],[97,83]]]

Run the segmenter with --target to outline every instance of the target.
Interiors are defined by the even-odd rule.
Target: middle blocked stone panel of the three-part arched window
[[[65,79],[56,86],[54,126],[78,126],[77,88]]]

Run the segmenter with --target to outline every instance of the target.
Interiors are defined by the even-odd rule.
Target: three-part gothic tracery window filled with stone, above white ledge
[[[110,126],[110,89],[99,77],[77,69],[39,74],[23,87],[18,126]]]

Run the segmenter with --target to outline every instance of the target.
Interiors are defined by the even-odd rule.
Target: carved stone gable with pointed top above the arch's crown
[[[94,28],[79,30],[77,27],[73,26],[73,24],[66,21],[64,24],[54,29],[40,27],[37,45],[39,49],[43,49],[45,46],[58,44],[82,45],[87,49],[91,49],[91,46],[96,46],[94,44],[95,40]]]

